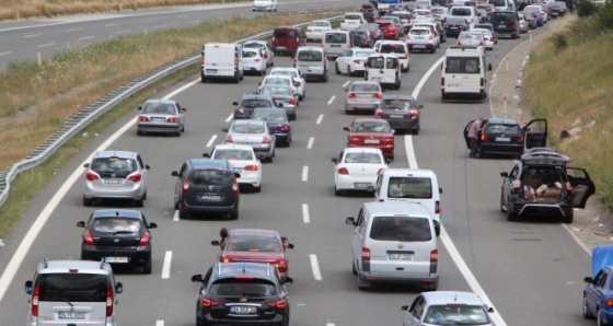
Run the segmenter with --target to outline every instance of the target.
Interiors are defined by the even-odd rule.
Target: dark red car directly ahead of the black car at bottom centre
[[[211,245],[219,246],[215,240]],[[281,276],[288,275],[287,249],[293,249],[293,244],[284,245],[277,231],[263,229],[230,230],[225,245],[221,248],[221,263],[269,263],[277,267]]]

